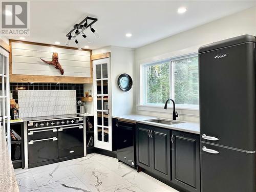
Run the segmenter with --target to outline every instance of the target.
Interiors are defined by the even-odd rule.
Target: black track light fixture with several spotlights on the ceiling
[[[93,32],[94,36],[96,38],[99,38],[99,34],[92,28],[92,25],[97,22],[97,18],[93,18],[93,17],[86,17],[84,18],[79,24],[74,25],[73,29],[66,35],[66,37],[68,37],[68,40],[66,42],[66,45],[69,46],[70,45],[70,40],[73,37],[75,39],[75,43],[77,44],[78,49],[81,49],[81,46],[78,43],[78,40],[76,39],[76,37],[79,34],[82,34],[82,37],[84,39],[86,39],[86,41],[88,43],[91,43],[92,41],[88,38],[88,36],[86,34],[84,34],[84,31],[90,27],[91,31]],[[73,33],[73,35],[72,35]]]

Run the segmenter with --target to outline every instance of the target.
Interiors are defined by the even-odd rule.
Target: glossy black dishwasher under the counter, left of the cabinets
[[[117,159],[136,167],[135,124],[117,120],[115,125]]]

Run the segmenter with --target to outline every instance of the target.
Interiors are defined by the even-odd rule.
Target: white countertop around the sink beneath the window
[[[159,117],[154,117],[154,116],[130,114],[130,115],[116,115],[116,116],[112,116],[112,117],[120,119],[120,120],[128,120],[128,121],[133,121],[133,122],[138,122],[138,123],[143,123],[143,124],[148,124],[148,125],[160,126],[160,127],[164,127],[166,129],[170,129],[170,130],[177,130],[177,131],[183,131],[183,132],[188,132],[188,133],[200,134],[200,126],[199,126],[199,123],[197,123],[197,122],[184,122],[183,121],[182,123],[167,125],[167,124],[160,124],[160,123],[145,121],[145,120],[149,120],[149,119],[159,119]],[[164,119],[164,118],[161,118],[161,119]],[[170,119],[165,119],[165,120],[170,120]],[[181,121],[177,120],[177,122],[181,122]]]

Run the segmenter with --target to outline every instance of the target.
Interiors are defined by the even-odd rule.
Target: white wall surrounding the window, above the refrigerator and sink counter
[[[135,50],[136,113],[171,117],[162,108],[140,106],[140,66],[146,62],[196,53],[202,45],[243,34],[256,36],[256,7],[223,17],[208,24],[156,41]],[[158,111],[158,113],[155,113]],[[199,112],[178,109],[181,120],[199,120]]]

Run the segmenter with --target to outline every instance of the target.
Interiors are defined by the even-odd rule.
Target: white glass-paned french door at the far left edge
[[[10,83],[8,52],[0,48],[0,125],[6,133],[9,153],[11,151],[10,135]]]

